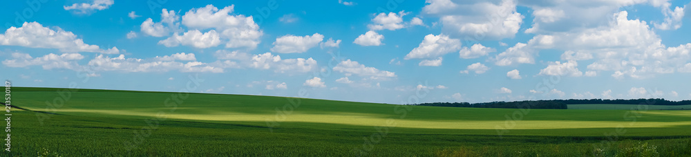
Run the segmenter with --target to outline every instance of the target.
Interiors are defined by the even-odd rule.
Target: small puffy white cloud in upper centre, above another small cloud
[[[384,12],[379,13],[372,23],[367,25],[370,30],[397,30],[404,28],[403,16],[408,15],[408,13],[401,11],[396,14],[395,12],[389,12],[388,15]]]

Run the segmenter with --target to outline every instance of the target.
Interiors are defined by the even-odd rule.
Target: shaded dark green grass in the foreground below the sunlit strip
[[[15,111],[12,154],[3,156],[593,156],[623,154],[647,143],[659,156],[691,156],[691,138],[632,136],[616,140],[569,136],[468,136],[430,133],[283,128],[270,132],[242,125],[160,122],[142,142],[133,131],[148,126],[143,119],[90,118],[57,115],[43,126],[29,111]],[[369,130],[369,131],[368,131]],[[607,145],[600,145],[601,142]],[[604,147],[603,147],[604,146]],[[603,151],[597,151],[602,149]]]

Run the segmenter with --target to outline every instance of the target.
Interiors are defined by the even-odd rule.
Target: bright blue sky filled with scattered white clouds
[[[689,0],[3,3],[0,76],[12,86],[392,104],[691,99]]]

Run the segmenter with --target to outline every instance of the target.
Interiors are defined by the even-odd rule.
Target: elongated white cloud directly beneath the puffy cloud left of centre
[[[259,69],[274,68],[276,73],[300,72],[306,73],[316,70],[316,61],[312,58],[281,59],[279,55],[264,53],[252,56],[250,67]]]

